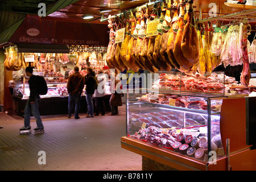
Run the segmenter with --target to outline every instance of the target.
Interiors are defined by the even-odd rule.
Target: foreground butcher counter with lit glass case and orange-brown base
[[[251,103],[239,94],[129,90],[121,147],[142,155],[142,170],[255,170]]]

